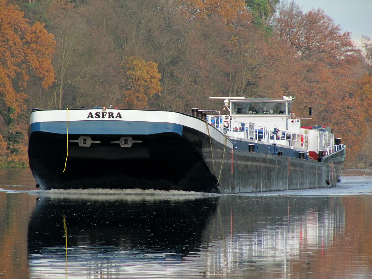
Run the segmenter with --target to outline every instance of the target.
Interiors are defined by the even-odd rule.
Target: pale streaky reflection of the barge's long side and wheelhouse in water
[[[227,196],[219,202],[206,234],[211,277],[292,277],[292,263],[323,253],[344,229],[338,198]]]

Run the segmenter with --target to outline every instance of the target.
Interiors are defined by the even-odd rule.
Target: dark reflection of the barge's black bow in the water
[[[201,251],[216,208],[202,195],[42,196],[28,228],[30,277],[179,276],[173,268]]]

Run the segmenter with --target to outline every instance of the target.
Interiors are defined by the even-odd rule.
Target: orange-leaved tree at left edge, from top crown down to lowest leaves
[[[54,81],[52,54],[55,42],[42,23],[28,24],[16,6],[0,0],[0,115],[3,129],[0,154],[11,160],[27,160],[25,123],[20,123],[26,108],[24,90],[32,77],[48,87]],[[5,150],[4,150],[5,148]],[[17,156],[12,157],[12,155]]]

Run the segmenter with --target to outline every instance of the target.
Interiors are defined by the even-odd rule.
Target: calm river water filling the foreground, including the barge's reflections
[[[0,278],[372,278],[372,171],[249,195],[40,191],[0,169]]]

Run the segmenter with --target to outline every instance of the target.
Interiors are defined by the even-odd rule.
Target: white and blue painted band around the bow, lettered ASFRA
[[[150,135],[174,132],[182,136],[182,126],[186,126],[225,143],[225,135],[220,131],[211,125],[207,129],[205,121],[183,113],[106,109],[103,119],[102,112],[102,109],[68,110],[67,116],[67,110],[36,110],[30,116],[30,133],[66,134],[68,117],[69,134]],[[112,114],[109,115],[109,112]],[[227,147],[233,148],[230,141],[227,141]]]

